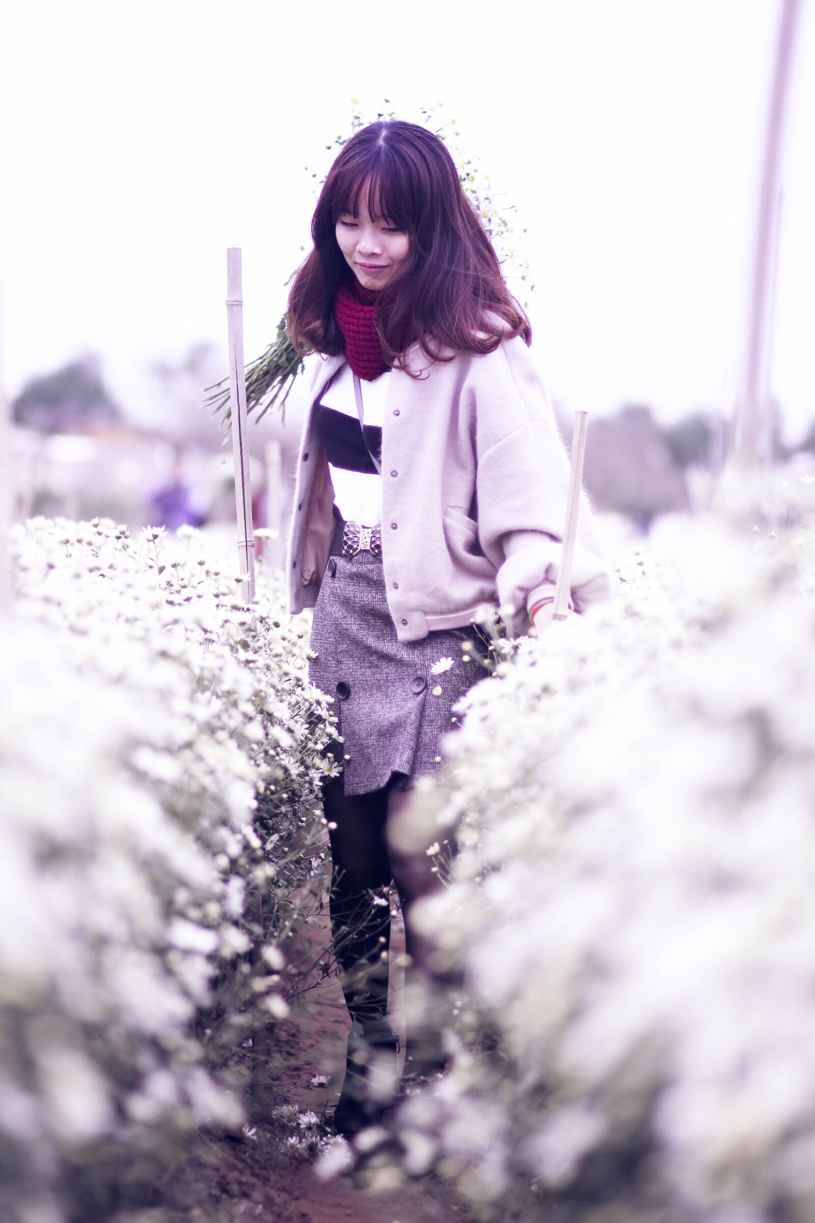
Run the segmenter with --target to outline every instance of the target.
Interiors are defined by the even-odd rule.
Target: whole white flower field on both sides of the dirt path
[[[302,986],[330,703],[283,575],[244,608],[199,532],[32,519],[13,549],[0,1218],[125,1218],[185,1134],[240,1132],[240,1053]],[[485,1221],[810,1223],[815,534],[666,517],[616,576],[502,642],[419,788],[459,843],[425,901],[453,1063],[401,1168]]]

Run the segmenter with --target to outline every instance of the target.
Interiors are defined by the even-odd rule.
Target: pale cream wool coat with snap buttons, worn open
[[[422,378],[392,371],[382,424],[382,560],[396,636],[417,641],[467,625],[483,604],[501,609],[510,632],[527,632],[527,598],[541,586],[554,593],[569,481],[530,350],[516,336],[494,352],[456,352],[445,363],[431,362],[415,344],[408,358]],[[286,553],[291,614],[314,607],[334,536],[334,489],[314,407],[344,363],[323,353],[305,362],[310,397]],[[584,489],[574,608],[584,612],[609,592]]]

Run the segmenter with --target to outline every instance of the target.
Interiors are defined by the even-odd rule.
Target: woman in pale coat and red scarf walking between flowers
[[[392,879],[411,974],[430,954],[411,909],[438,876],[411,837],[410,790],[441,768],[450,706],[483,674],[478,609],[499,608],[510,631],[551,610],[569,462],[529,320],[437,136],[400,121],[356,132],[312,237],[288,309],[313,356],[286,570],[289,610],[314,609],[310,680],[337,700],[341,774],[323,805],[352,1022],[334,1125],[352,1134],[381,1115],[377,1064],[395,1071]],[[578,613],[609,588],[581,499]],[[432,1037],[409,1026],[406,1076],[443,1066]]]

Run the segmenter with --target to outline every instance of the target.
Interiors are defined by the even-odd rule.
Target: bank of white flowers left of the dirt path
[[[259,566],[198,532],[32,519],[0,654],[0,1218],[106,1218],[288,1013],[329,717]],[[244,1063],[246,1063],[246,1057]]]

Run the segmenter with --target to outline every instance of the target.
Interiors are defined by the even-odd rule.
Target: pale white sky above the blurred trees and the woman
[[[0,18],[0,372],[97,351],[135,415],[146,375],[225,349],[244,251],[245,352],[302,259],[310,170],[350,99],[443,103],[527,226],[532,353],[567,410],[729,412],[742,373],[776,0],[278,5],[26,0]],[[815,416],[815,15],[783,157],[772,390]],[[432,18],[432,20],[431,20]]]

